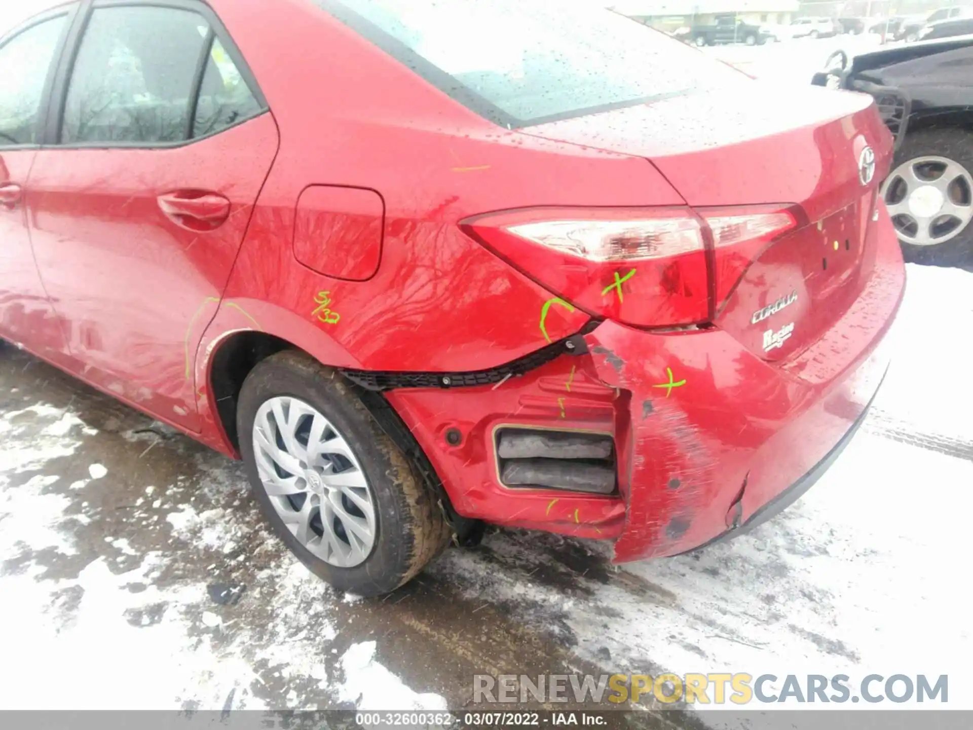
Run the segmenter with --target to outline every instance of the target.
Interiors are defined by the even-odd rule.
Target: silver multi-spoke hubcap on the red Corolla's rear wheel
[[[253,453],[270,503],[309,552],[332,566],[365,562],[375,547],[375,498],[330,420],[298,398],[270,398],[253,422]]]

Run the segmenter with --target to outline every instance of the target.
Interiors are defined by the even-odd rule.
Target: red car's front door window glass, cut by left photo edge
[[[0,147],[37,142],[37,117],[65,16],[32,25],[0,48]]]

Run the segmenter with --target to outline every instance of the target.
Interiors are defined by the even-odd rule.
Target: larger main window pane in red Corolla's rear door
[[[75,60],[61,142],[185,140],[209,26],[176,8],[98,8]]]

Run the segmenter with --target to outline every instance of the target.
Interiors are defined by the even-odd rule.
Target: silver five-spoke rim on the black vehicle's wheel
[[[917,246],[945,243],[973,219],[973,175],[949,158],[925,155],[900,164],[882,195],[899,238]]]

